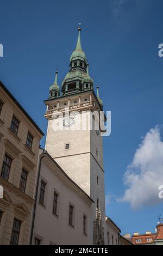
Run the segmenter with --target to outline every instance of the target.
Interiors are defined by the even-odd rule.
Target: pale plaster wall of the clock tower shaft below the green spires
[[[71,96],[70,96],[71,97]],[[76,96],[77,97],[77,96]],[[84,99],[89,99],[90,93],[85,93],[82,96],[81,102]],[[49,105],[49,109],[52,105]],[[59,106],[65,99],[60,99]],[[57,105],[57,103],[55,103]],[[70,101],[71,107],[71,101]],[[80,109],[81,110],[81,109]],[[71,112],[72,115],[72,112]],[[55,129],[58,124],[62,124],[64,118],[60,117],[48,120],[48,129],[46,137],[45,149],[58,162],[62,169],[70,178],[76,182],[95,202],[91,206],[92,222],[96,218],[97,199],[98,207],[102,212],[102,224],[105,225],[105,194],[104,194],[104,166],[103,166],[103,141],[99,132],[90,129],[92,112],[85,109],[85,113],[74,113],[74,125],[69,129]],[[82,120],[82,122],[81,122]],[[85,121],[86,120],[86,121]],[[98,123],[98,117],[95,116],[94,123]],[[85,130],[77,130],[77,127],[83,127]],[[74,128],[73,128],[74,127]],[[65,145],[70,144],[69,149],[65,149]],[[98,177],[98,184],[97,184]],[[93,240],[93,236],[92,236]]]

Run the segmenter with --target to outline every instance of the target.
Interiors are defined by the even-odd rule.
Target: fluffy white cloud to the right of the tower
[[[142,139],[124,174],[124,183],[129,188],[121,202],[129,202],[132,209],[163,202],[158,197],[158,187],[163,185],[163,142],[159,126]]]

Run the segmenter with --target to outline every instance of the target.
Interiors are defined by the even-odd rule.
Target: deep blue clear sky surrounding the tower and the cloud
[[[112,113],[104,138],[106,214],[123,233],[154,231],[159,204],[131,208],[118,202],[127,186],[124,173],[142,136],[162,125],[163,43],[161,0],[0,0],[0,80],[46,132],[48,88],[58,69],[61,84],[82,23],[82,46],[90,75]],[[41,145],[44,146],[45,138]],[[160,184],[161,185],[161,184]],[[137,188],[139,190],[139,187]],[[108,196],[109,195],[109,196]]]

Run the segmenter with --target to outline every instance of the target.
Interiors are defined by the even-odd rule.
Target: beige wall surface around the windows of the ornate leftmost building
[[[27,245],[41,134],[2,87],[0,87],[0,95],[0,100],[3,102],[0,115],[0,175],[5,153],[12,159],[9,180],[4,180],[0,176],[0,185],[4,190],[4,198],[0,199],[0,210],[3,212],[0,225],[0,244],[10,244],[12,225],[14,218],[17,218],[22,222],[18,244]],[[17,136],[10,130],[13,114],[20,121]],[[34,137],[32,150],[26,147],[28,131]],[[22,168],[28,172],[26,193],[19,189]]]

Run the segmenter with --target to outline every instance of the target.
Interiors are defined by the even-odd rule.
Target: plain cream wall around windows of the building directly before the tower
[[[45,206],[39,203],[41,180],[46,182]],[[53,214],[54,191],[59,193],[58,217]],[[68,224],[69,205],[74,206],[74,228]],[[93,240],[93,221],[91,219],[90,199],[86,199],[79,190],[60,170],[52,160],[42,159],[37,198],[33,244],[35,237],[41,240],[41,245],[91,245]],[[83,234],[83,214],[86,215],[86,233]]]

